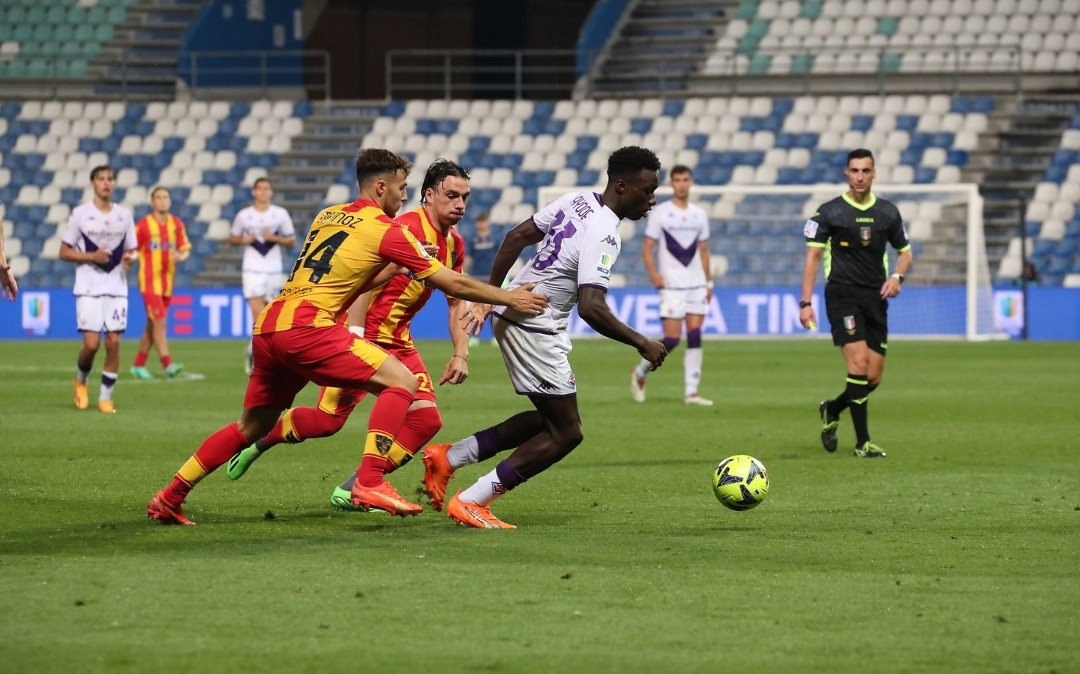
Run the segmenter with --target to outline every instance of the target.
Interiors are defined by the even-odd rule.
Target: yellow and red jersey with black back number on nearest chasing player
[[[416,279],[443,268],[404,226],[378,204],[357,199],[315,216],[285,285],[255,320],[254,333],[343,323],[369,282],[396,262]]]

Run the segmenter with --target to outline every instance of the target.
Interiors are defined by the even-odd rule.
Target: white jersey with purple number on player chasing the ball
[[[622,248],[619,216],[596,192],[570,192],[534,215],[532,224],[543,232],[543,241],[509,287],[536,283],[532,292],[548,297],[548,309],[539,316],[503,307],[496,311],[526,329],[564,332],[578,304],[578,288],[608,288]]]

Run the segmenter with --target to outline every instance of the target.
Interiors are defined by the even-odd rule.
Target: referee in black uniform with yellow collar
[[[825,312],[833,327],[833,343],[843,353],[848,379],[839,395],[819,407],[821,444],[827,451],[836,451],[840,414],[850,408],[855,456],[877,458],[885,451],[870,442],[866,399],[881,382],[889,340],[889,298],[900,295],[904,274],[912,266],[912,245],[896,206],[870,191],[877,176],[874,154],[866,149],[849,152],[843,175],[848,191],[822,204],[804,225],[807,259],[799,322],[811,329],[816,324],[811,299],[824,257]],[[887,243],[900,254],[892,274]]]

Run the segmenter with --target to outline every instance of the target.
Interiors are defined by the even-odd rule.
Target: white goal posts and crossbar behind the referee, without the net
[[[537,190],[537,210],[555,201],[563,194],[579,191],[581,186],[546,186]],[[591,189],[603,191],[598,186]],[[843,184],[818,183],[814,185],[694,185],[691,189],[691,200],[707,194],[809,194],[821,196],[821,203],[832,197],[843,193],[848,189]],[[671,197],[671,187],[664,185],[657,190],[661,200]],[[963,200],[966,210],[967,260],[964,272],[964,338],[968,340],[997,339],[1001,335],[994,326],[994,288],[989,261],[986,256],[986,243],[983,231],[983,197],[974,183],[951,184],[890,184],[881,183],[874,186],[874,193],[888,198],[892,193],[955,196]],[[901,214],[905,215],[905,214]],[[906,220],[905,220],[906,221]],[[793,223],[793,226],[797,223]],[[918,269],[918,259],[915,260]]]

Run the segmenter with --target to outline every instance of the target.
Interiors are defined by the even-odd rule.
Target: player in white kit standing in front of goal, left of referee
[[[652,286],[660,291],[660,318],[663,320],[664,347],[675,350],[686,322],[686,353],[683,356],[683,402],[687,405],[712,405],[698,393],[701,383],[701,326],[713,299],[713,279],[708,267],[708,216],[690,203],[693,177],[690,168],[673,166],[670,184],[674,194],[649,214],[645,227],[642,257]],[[659,270],[653,264],[653,248],[659,248]],[[630,393],[645,402],[645,378],[651,364],[642,359],[630,376]]]

